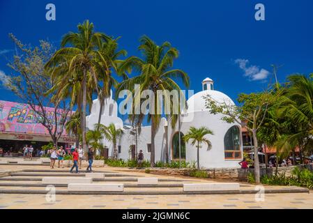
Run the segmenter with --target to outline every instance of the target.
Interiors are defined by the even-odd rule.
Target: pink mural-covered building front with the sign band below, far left
[[[46,109],[54,120],[54,109]],[[52,141],[49,132],[38,122],[36,113],[29,105],[0,100],[0,148],[17,153],[25,144],[32,144],[36,150],[49,141]],[[68,146],[74,142],[75,138],[63,130],[59,143]]]

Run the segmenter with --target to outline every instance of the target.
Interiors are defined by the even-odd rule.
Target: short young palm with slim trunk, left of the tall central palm
[[[117,141],[121,139],[123,136],[123,130],[117,129],[114,123],[109,124],[109,126],[105,126],[102,124],[95,125],[96,130],[99,130],[102,134],[104,134],[105,139],[110,141],[113,144],[113,157],[117,158]]]

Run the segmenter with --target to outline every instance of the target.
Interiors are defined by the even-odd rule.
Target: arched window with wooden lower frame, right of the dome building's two
[[[233,126],[226,132],[224,152],[226,160],[241,159],[241,131],[238,126]]]

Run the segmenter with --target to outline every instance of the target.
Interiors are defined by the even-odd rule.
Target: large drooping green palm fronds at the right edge
[[[292,151],[298,147],[300,155],[312,152],[313,147],[313,74],[291,75],[289,85],[280,102],[281,116],[293,123],[292,131],[286,132],[275,144],[277,149]]]

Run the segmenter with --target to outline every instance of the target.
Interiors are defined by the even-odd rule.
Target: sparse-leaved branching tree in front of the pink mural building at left
[[[29,106],[34,112],[33,121],[41,123],[47,129],[54,145],[57,146],[71,107],[65,100],[52,98],[54,91],[44,94],[52,87],[49,78],[51,70],[45,70],[44,66],[54,49],[47,41],[40,40],[40,46],[30,47],[13,34],[9,36],[16,46],[14,59],[8,63],[14,74],[6,77],[4,85]]]

